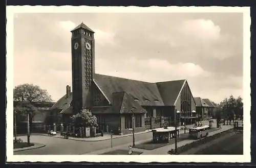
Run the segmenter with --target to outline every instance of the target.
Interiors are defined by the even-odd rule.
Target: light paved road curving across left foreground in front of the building
[[[27,141],[26,136],[18,138]],[[152,132],[135,135],[135,141],[150,140]],[[46,146],[38,149],[14,152],[14,155],[79,155],[111,147],[111,140],[102,141],[78,141],[56,138],[52,136],[31,135],[31,142],[44,143]],[[113,147],[131,143],[133,136],[124,136],[113,139]]]

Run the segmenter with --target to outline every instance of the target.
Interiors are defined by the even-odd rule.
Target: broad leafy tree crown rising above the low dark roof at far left
[[[37,85],[26,83],[15,86],[13,89],[13,101],[52,102],[52,98],[47,90],[41,89]]]

